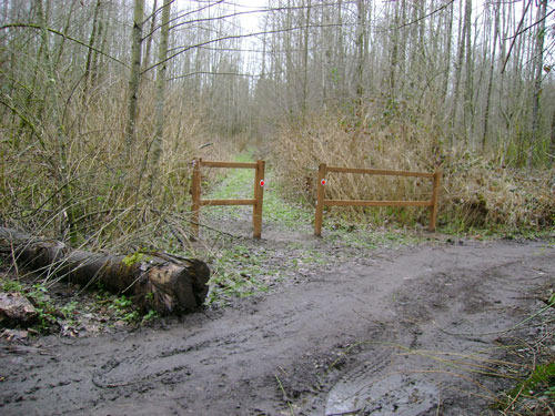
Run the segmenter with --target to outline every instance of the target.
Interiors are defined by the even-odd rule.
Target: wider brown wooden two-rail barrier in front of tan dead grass
[[[362,173],[371,175],[391,175],[391,176],[416,176],[433,179],[432,200],[430,201],[356,201],[356,200],[325,200],[324,186],[326,174],[329,172],[339,173]],[[437,196],[440,191],[441,171],[428,172],[407,172],[407,171],[386,171],[377,169],[354,169],[354,168],[332,168],[322,163],[317,173],[317,204],[314,219],[314,234],[322,235],[322,216],[324,205],[327,206],[430,206],[430,231],[435,231],[435,221],[437,219]]]

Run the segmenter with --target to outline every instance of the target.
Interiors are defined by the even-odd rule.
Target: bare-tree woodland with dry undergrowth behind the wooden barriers
[[[440,168],[441,229],[552,229],[554,47],[548,0],[3,0],[0,222],[160,246],[188,234],[192,158],[250,150],[306,206],[321,162]],[[403,181],[327,192],[431,192]]]

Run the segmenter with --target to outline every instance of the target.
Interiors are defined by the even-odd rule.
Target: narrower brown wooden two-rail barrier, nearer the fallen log
[[[202,205],[252,205],[253,237],[262,235],[262,201],[264,196],[264,161],[256,162],[208,162],[202,159],[193,161],[192,183],[192,224],[193,232],[199,235],[199,212]],[[226,169],[254,169],[254,196],[252,200],[202,200],[201,199],[201,168],[226,168]]]

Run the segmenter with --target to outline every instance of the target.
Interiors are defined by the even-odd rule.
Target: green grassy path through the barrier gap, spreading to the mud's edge
[[[252,162],[252,159],[242,154],[235,161]],[[210,244],[206,258],[212,268],[210,305],[234,303],[244,296],[310,280],[322,270],[366,256],[376,247],[423,240],[422,235],[403,230],[369,231],[336,223],[327,224],[324,237],[315,237],[313,209],[285,201],[280,185],[273,181],[272,170],[266,166],[265,173],[262,240],[251,239],[251,206],[205,206],[201,210],[201,223],[223,232],[201,230],[201,240]],[[252,197],[253,170],[226,170],[216,180],[219,183],[205,191],[206,199]]]

